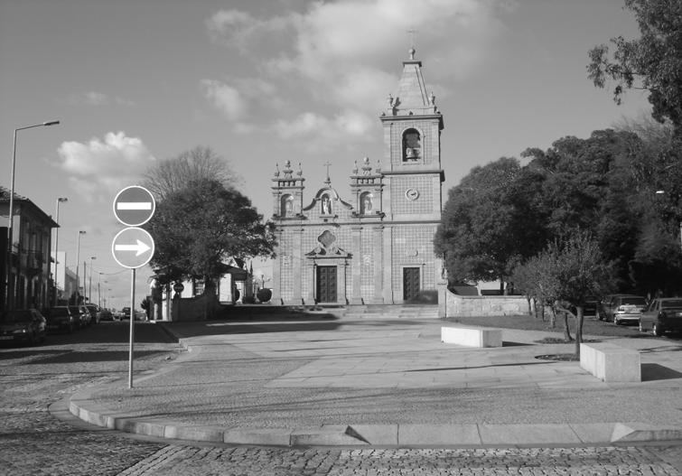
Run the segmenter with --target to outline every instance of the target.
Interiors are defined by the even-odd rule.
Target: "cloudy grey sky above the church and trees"
[[[85,230],[80,257],[120,308],[112,202],[154,163],[210,147],[265,219],[286,160],[302,163],[304,201],[328,161],[350,197],[353,162],[383,154],[378,116],[414,42],[444,116],[445,200],[474,166],[648,115],[643,92],[619,107],[587,79],[587,51],[617,35],[638,36],[622,0],[0,0],[0,184],[14,129],[60,120],[19,131],[15,191],[52,216],[69,199],[67,266]]]

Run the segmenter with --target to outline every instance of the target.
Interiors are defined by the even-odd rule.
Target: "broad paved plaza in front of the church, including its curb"
[[[70,399],[89,423],[181,440],[470,447],[682,439],[682,341],[604,338],[640,350],[642,381],[604,383],[574,344],[502,330],[503,347],[440,341],[436,319],[158,323],[188,351]],[[609,324],[604,324],[609,325]]]

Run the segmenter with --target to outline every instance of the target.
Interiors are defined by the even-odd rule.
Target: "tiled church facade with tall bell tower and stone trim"
[[[379,117],[384,154],[348,164],[348,192],[332,187],[329,164],[327,180],[308,197],[300,164],[276,166],[272,303],[410,303],[435,295],[444,125],[421,68],[410,50]]]

